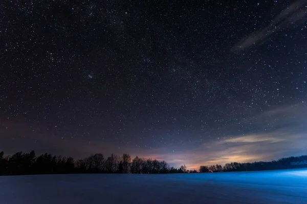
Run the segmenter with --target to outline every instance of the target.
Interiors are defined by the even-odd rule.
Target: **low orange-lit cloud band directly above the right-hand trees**
[[[180,163],[184,162],[189,168],[197,169],[200,165],[271,161],[281,157],[303,155],[307,150],[306,133],[276,131],[262,135],[233,137],[233,139],[211,141],[192,153],[182,153],[181,157],[186,159]]]

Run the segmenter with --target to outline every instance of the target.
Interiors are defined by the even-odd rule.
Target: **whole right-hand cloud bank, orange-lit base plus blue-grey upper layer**
[[[307,108],[304,104],[277,107],[245,120],[254,123],[258,131],[210,140],[192,152],[177,152],[168,161],[175,166],[185,163],[190,169],[198,169],[201,165],[271,161],[306,154]],[[268,124],[272,124],[271,130],[265,131],[264,126]]]

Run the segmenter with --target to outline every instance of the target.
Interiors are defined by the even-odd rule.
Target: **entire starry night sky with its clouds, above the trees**
[[[307,155],[307,1],[1,1],[0,150]]]

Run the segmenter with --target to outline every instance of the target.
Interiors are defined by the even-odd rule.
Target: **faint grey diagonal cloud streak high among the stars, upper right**
[[[261,44],[266,41],[271,35],[288,28],[295,23],[304,22],[307,15],[306,1],[300,0],[293,2],[286,9],[282,10],[266,28],[240,40],[232,47],[232,51],[242,51],[252,45]]]

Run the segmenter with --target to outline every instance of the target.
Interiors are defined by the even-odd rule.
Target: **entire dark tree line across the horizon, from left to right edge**
[[[84,159],[74,160],[72,157],[61,157],[51,154],[36,156],[35,151],[16,152],[12,156],[4,156],[0,152],[0,175],[24,174],[58,174],[58,173],[205,173],[231,171],[259,171],[290,168],[307,168],[307,156],[282,158],[271,162],[227,163],[200,166],[199,171],[169,167],[167,162],[150,158],[131,158],[112,154],[105,158],[102,154],[93,154]]]

